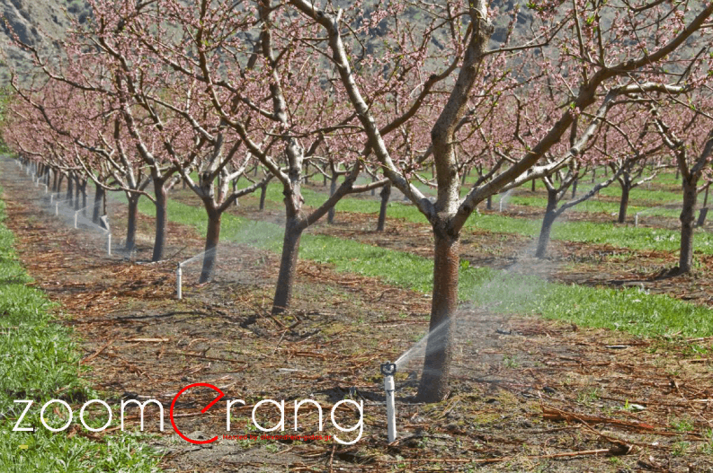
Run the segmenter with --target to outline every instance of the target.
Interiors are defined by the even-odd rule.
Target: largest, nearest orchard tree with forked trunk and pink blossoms
[[[681,56],[678,49],[687,41],[709,44],[709,38],[701,39],[703,33],[699,30],[710,21],[713,3],[697,4],[696,11],[689,12],[689,4],[661,2],[637,7],[619,3],[592,4],[579,0],[572,4],[536,2],[532,4],[535,10],[531,14],[538,22],[537,26],[532,26],[532,31],[538,36],[521,39],[520,46],[506,42],[500,48],[489,46],[492,44],[489,39],[494,28],[491,12],[484,0],[409,4],[409,8],[417,9],[421,15],[438,18],[441,29],[453,37],[453,44],[458,46],[451,56],[455,66],[445,66],[442,58],[424,64],[428,58],[426,54],[414,63],[421,77],[428,77],[422,80],[422,90],[437,82],[441,87],[437,99],[430,103],[439,110],[437,118],[421,122],[424,135],[430,141],[435,164],[438,186],[435,201],[423,196],[409,181],[412,170],[405,162],[398,160],[397,150],[389,148],[382,134],[382,126],[379,125],[382,121],[379,112],[388,109],[389,103],[393,109],[415,109],[408,118],[418,115],[423,104],[421,96],[414,99],[411,94],[396,97],[370,93],[371,77],[357,74],[359,65],[355,63],[358,60],[376,59],[361,47],[359,38],[351,33],[352,25],[358,21],[346,17],[343,10],[334,10],[332,5],[323,9],[307,0],[290,0],[290,4],[305,18],[322,27],[324,39],[315,43],[314,48],[319,48],[322,54],[330,58],[330,64],[325,66],[323,75],[329,74],[333,68],[339,74],[343,91],[361,123],[364,142],[378,159],[388,179],[432,225],[434,270],[430,330],[432,333],[444,330],[444,335],[429,338],[419,398],[424,401],[443,399],[449,392],[453,332],[451,322],[458,303],[460,232],[468,217],[479,202],[505,186],[520,185],[551,171],[553,166],[547,163],[538,165],[546,153],[562,156],[563,160],[576,159],[587,144],[569,147],[561,143],[562,138],[577,117],[584,122],[581,126],[585,128],[596,126],[597,122],[601,124],[603,115],[600,111],[604,111],[601,104],[608,91],[615,87],[644,83],[649,78],[661,80],[661,65],[664,61],[673,61],[674,57],[678,61],[686,60],[686,56]],[[372,19],[377,17],[377,20],[379,14],[383,14],[381,18],[393,16],[402,23],[406,22],[403,14],[405,8],[404,4],[392,4],[383,13],[370,14]],[[358,7],[352,7],[346,13],[360,14]],[[370,21],[363,14],[360,19],[363,22]],[[425,36],[428,39],[428,32]],[[414,37],[423,38],[423,35],[414,34]],[[411,45],[406,44],[408,37],[394,35],[393,42],[398,41],[402,44],[394,49],[398,48],[406,56],[412,50]],[[516,54],[521,50],[521,54]],[[460,197],[456,158],[459,141],[457,127],[467,113],[475,116],[474,123],[477,124],[485,118],[486,112],[493,109],[483,99],[485,91],[495,89],[490,84],[498,78],[502,79],[501,71],[512,65],[515,57],[520,58],[521,64],[527,64],[527,67],[520,69],[523,75],[517,80],[525,81],[529,76],[547,73],[562,84],[564,92],[558,93],[553,100],[540,85],[530,83],[530,88],[536,92],[542,91],[539,96],[533,93],[530,100],[536,101],[543,108],[552,103],[559,107],[548,113],[548,117],[540,121],[539,127],[529,130],[528,136],[523,133],[520,137],[524,145],[513,147],[507,158],[501,160],[503,164],[492,166],[465,197]],[[439,73],[447,77],[452,74],[453,78],[439,82]],[[396,81],[398,75],[390,76]],[[590,109],[598,103],[599,108],[592,113]],[[503,116],[516,113],[513,108],[498,111]],[[509,143],[512,141],[508,140]],[[488,142],[500,147],[493,140]]]

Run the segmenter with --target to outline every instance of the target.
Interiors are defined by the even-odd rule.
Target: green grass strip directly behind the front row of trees
[[[155,207],[141,199],[139,210],[154,215]],[[169,199],[168,215],[176,223],[192,225],[201,234],[206,231],[206,215],[201,206]],[[223,215],[222,241],[279,252],[281,239],[280,225]],[[432,287],[432,260],[403,251],[307,233],[302,237],[299,258],[333,265],[339,272],[377,277],[386,284],[424,294]],[[491,311],[539,314],[642,336],[713,335],[713,311],[706,307],[666,295],[649,295],[637,288],[616,290],[548,283],[536,276],[471,267],[468,261],[460,265],[459,298]]]

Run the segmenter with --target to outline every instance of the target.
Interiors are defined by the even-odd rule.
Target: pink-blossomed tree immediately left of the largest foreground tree
[[[280,182],[286,219],[272,313],[285,311],[302,233],[342,197],[386,182],[355,185],[366,152],[332,137],[354,127],[354,111],[344,107],[329,80],[317,78],[324,57],[303,46],[310,31],[285,5],[224,0],[120,4],[117,10],[134,42],[177,74],[177,81],[199,81],[222,124]],[[327,100],[322,92],[330,95]],[[307,162],[330,159],[347,170],[344,180],[322,205],[307,212],[301,191]]]

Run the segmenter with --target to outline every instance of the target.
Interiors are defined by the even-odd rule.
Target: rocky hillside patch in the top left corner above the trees
[[[53,48],[53,39],[61,38],[69,26],[69,17],[84,22],[89,14],[84,0],[0,0],[0,84],[9,81],[9,68],[18,74],[26,73],[30,63],[28,55],[13,46],[12,29],[23,42],[47,50]]]

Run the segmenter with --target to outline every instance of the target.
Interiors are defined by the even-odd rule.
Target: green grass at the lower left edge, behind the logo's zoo
[[[40,408],[47,400],[63,399],[73,406],[74,425],[81,404],[96,394],[78,377],[79,356],[69,330],[51,319],[44,293],[27,285],[31,278],[15,258],[13,233],[2,221],[0,201],[0,471],[156,471],[157,457],[136,436],[117,434],[94,442],[41,426]],[[35,425],[35,432],[13,432],[25,407],[13,402],[18,399],[34,401],[22,425]],[[47,418],[55,426],[66,420],[54,414]]]

